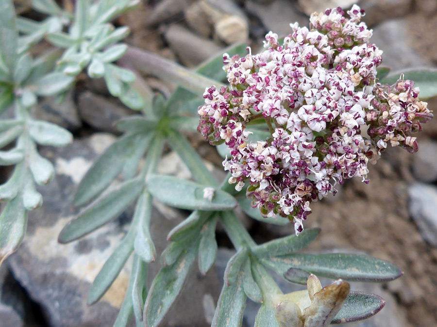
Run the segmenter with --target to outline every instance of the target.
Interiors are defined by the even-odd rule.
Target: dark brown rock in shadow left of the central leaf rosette
[[[103,96],[85,91],[79,94],[78,109],[80,118],[101,132],[120,134],[115,123],[123,117],[137,114],[122,104],[110,101]]]

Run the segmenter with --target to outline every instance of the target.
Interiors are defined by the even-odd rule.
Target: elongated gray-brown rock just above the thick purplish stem
[[[181,25],[170,25],[164,34],[170,48],[181,62],[193,67],[222,50],[212,40],[199,37]]]

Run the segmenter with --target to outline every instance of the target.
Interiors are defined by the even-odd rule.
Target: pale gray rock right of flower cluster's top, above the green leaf
[[[398,18],[385,21],[373,29],[370,42],[384,51],[382,65],[392,70],[429,64],[409,45],[406,26],[406,20]]]

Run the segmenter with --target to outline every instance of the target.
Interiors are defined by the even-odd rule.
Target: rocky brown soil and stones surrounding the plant
[[[142,1],[118,21],[132,28],[128,43],[194,67],[227,45],[249,40],[253,49],[267,31],[286,35],[288,24],[307,24],[317,6],[352,3],[348,0],[162,0]],[[437,64],[436,0],[361,0],[365,21],[373,28],[372,41],[384,50],[384,65],[392,69]],[[174,85],[147,77],[164,95]],[[437,108],[437,98],[429,100]],[[23,245],[0,269],[0,327],[111,326],[124,297],[128,270],[123,270],[101,302],[88,307],[87,292],[101,265],[126,230],[130,214],[81,241],[57,244],[57,235],[75,214],[72,194],[93,160],[116,136],[113,123],[134,111],[111,98],[99,80],[82,78],[61,105],[47,98],[34,110],[41,119],[71,130],[76,140],[64,149],[43,149],[55,164],[57,177],[40,189],[44,205],[29,215]],[[220,173],[216,150],[198,135],[193,145]],[[362,289],[382,295],[386,308],[354,327],[437,326],[437,119],[424,125],[420,150],[412,156],[389,149],[370,168],[370,185],[349,180],[335,197],[314,203],[307,226],[322,233],[309,251],[353,250],[387,259],[400,266],[402,278]],[[189,177],[178,157],[169,152],[160,165],[167,173]],[[3,170],[0,176],[8,173]],[[1,178],[1,177],[0,177]],[[156,203],[152,237],[158,252],[167,244],[168,230],[186,213]],[[294,233],[292,226],[266,225],[241,217],[258,242]],[[202,276],[196,268],[185,291],[163,326],[209,326],[221,288],[223,270],[232,255],[226,235],[214,270]],[[151,265],[153,276],[160,263]],[[127,269],[127,268],[126,268]],[[279,280],[278,280],[279,281]],[[281,281],[285,292],[293,285]],[[248,300],[244,324],[253,326],[256,305]]]

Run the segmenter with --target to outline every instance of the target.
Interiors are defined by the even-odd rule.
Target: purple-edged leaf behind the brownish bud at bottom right
[[[381,311],[385,304],[386,301],[381,296],[352,291],[331,324],[367,319]]]

